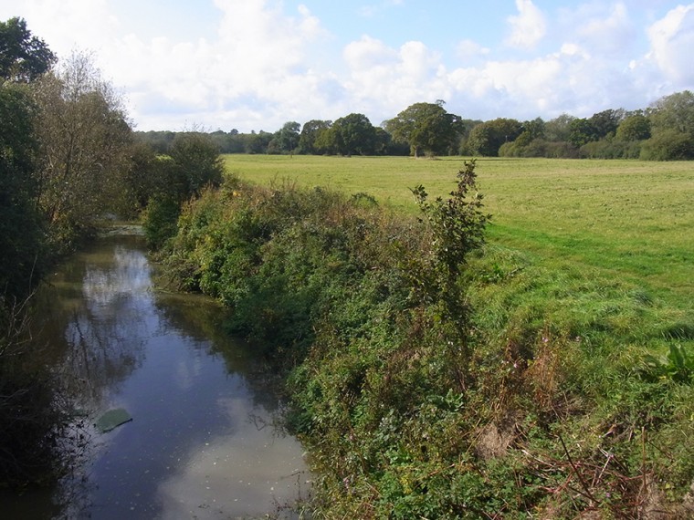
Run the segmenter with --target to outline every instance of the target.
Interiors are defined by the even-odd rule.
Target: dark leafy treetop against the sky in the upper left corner
[[[47,72],[55,61],[44,41],[31,36],[23,18],[0,22],[0,78],[27,83]]]

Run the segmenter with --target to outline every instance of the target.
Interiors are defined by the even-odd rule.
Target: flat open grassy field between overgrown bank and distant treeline
[[[460,158],[226,155],[228,172],[264,184],[297,182],[366,192],[398,211],[417,211],[409,188],[453,188]],[[672,304],[694,294],[694,162],[482,159],[492,244],[549,267],[594,269]]]

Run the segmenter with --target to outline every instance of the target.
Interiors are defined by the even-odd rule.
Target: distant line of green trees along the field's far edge
[[[286,122],[270,132],[206,132],[221,153],[305,155],[463,155],[563,159],[694,159],[694,94],[658,99],[647,109],[606,109],[589,118],[562,114],[552,120],[464,120],[444,102],[415,103],[374,126],[363,114],[338,120]],[[196,130],[197,131],[197,130]],[[135,132],[158,153],[187,132]]]

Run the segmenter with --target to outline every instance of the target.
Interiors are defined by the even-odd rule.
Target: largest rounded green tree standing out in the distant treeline
[[[462,133],[459,116],[449,114],[443,101],[415,103],[385,121],[395,141],[406,142],[415,157],[422,152],[445,154],[456,148]]]

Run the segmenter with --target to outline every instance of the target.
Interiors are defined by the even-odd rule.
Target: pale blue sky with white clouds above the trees
[[[58,57],[89,52],[135,130],[279,130],[417,102],[464,119],[644,109],[694,90],[671,0],[0,0]]]

